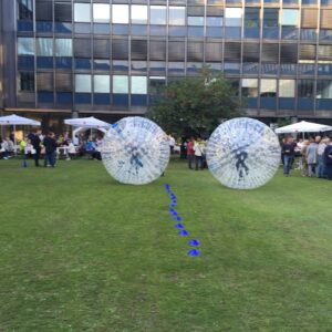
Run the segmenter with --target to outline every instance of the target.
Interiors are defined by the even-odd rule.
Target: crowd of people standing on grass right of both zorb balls
[[[281,147],[284,176],[290,175],[298,157],[302,176],[332,180],[332,141],[329,137],[315,136],[298,142],[287,137]]]

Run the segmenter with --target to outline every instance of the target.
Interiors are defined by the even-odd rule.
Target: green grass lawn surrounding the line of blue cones
[[[331,190],[297,173],[231,190],[178,160],[145,186],[94,160],[0,160],[0,331],[332,331]]]

